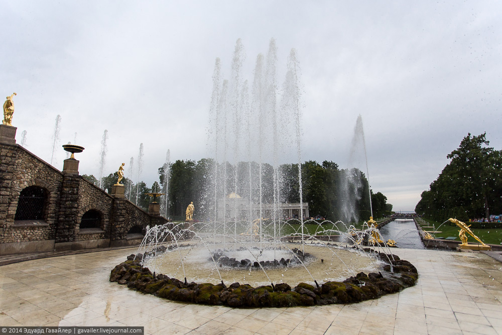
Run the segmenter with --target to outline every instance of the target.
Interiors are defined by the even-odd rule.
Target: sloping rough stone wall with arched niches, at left
[[[29,186],[47,194],[43,219],[15,220],[20,193]],[[100,227],[80,230],[82,215],[91,209],[100,213]],[[0,142],[0,254],[131,245],[138,243],[127,239],[132,227],[165,222],[17,144]]]

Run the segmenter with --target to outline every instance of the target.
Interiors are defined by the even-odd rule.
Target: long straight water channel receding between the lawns
[[[425,249],[413,219],[398,218],[380,229],[383,240],[392,239],[402,249]]]

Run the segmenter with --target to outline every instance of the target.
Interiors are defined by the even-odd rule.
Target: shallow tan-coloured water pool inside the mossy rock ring
[[[210,245],[213,250],[224,250],[221,245]],[[250,248],[249,250],[225,250],[225,255],[235,258],[237,261],[266,261],[281,259],[296,259],[291,251],[300,248],[301,245],[288,243],[281,246],[281,249],[260,250]],[[270,285],[270,283],[287,282],[289,285],[297,285],[300,282],[314,285],[314,280],[318,282],[342,281],[347,277],[355,276],[363,272],[379,272],[383,267],[382,262],[377,262],[373,257],[368,257],[365,253],[337,246],[324,245],[304,245],[304,251],[310,257],[306,257],[303,262],[296,264],[289,263],[285,266],[239,266],[233,268],[225,266],[211,258],[210,253],[204,246],[190,245],[173,249],[162,253],[157,257],[146,258],[144,266],[156,273],[162,273],[170,277],[184,278],[188,282],[207,282],[218,284],[222,280],[224,283],[234,282],[247,283],[252,286]],[[253,255],[254,254],[254,255]],[[183,260],[183,264],[181,263]],[[239,262],[240,264],[240,262]]]

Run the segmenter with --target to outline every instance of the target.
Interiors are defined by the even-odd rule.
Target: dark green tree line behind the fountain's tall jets
[[[254,202],[259,202],[260,194],[257,192],[258,180],[252,180],[251,185],[247,174],[249,170],[258,171],[256,162],[239,162],[236,165],[226,163],[216,164],[214,160],[203,158],[199,161],[177,160],[169,165],[164,164],[158,169],[159,182],[155,181],[148,187],[144,181],[133,182],[124,177],[122,183],[125,188],[126,198],[141,208],[148,210],[151,198],[145,193],[166,192],[167,190],[167,215],[182,218],[187,205],[193,201],[196,205],[196,217],[206,219],[214,211],[214,194],[223,194],[222,185],[215,188],[215,167],[217,174],[226,174],[227,193],[236,191],[242,197],[249,196]],[[169,174],[166,173],[169,169]],[[381,192],[369,191],[366,176],[360,170],[339,169],[338,164],[324,161],[307,161],[301,165],[302,169],[302,198],[309,203],[309,214],[312,217],[320,216],[332,221],[344,222],[367,220],[371,215],[369,197],[374,217],[390,214],[392,204],[387,203],[387,197]],[[298,164],[283,164],[278,169],[280,179],[280,201],[285,203],[300,202],[300,183]],[[262,164],[262,202],[274,202],[274,168],[270,164]],[[236,177],[237,174],[237,177]],[[167,183],[167,176],[169,181]],[[221,180],[221,176],[218,175]],[[117,174],[110,173],[102,177],[101,181],[93,175],[83,175],[84,178],[100,186],[103,190],[111,191],[117,181]],[[218,178],[217,178],[218,179]],[[165,196],[161,202],[161,214],[165,214]],[[349,208],[347,211],[346,209]]]

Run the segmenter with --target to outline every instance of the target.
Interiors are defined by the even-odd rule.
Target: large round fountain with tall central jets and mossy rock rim
[[[308,232],[305,225],[315,221],[303,215],[296,51],[279,103],[275,40],[266,57],[257,57],[250,92],[244,58],[237,40],[229,80],[215,62],[208,132],[213,171],[193,219],[189,205],[186,222],[147,227],[138,252],[112,270],[110,281],[172,300],[233,307],[357,302],[414,285],[415,267],[383,241],[372,249],[357,245],[360,237],[375,237],[375,227],[353,236],[354,226],[325,221]],[[280,164],[290,157],[299,163],[299,215],[284,220]],[[207,216],[207,222],[196,220]]]

